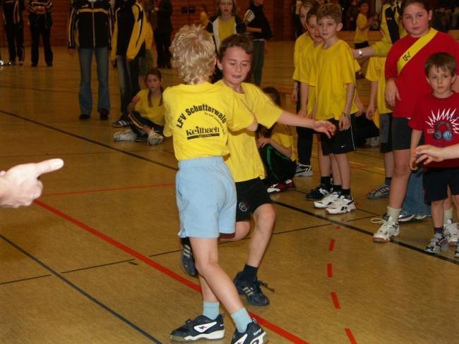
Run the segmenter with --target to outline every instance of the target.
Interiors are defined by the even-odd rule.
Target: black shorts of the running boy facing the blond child
[[[250,220],[251,214],[263,204],[271,204],[266,185],[260,178],[236,183],[236,221]]]

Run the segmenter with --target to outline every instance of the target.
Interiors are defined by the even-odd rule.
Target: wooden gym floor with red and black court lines
[[[290,87],[292,49],[270,44],[265,84]],[[43,176],[31,207],[0,209],[0,343],[169,343],[173,328],[201,312],[197,280],[179,266],[171,140],[113,142],[116,130],[95,111],[78,121],[78,59],[54,51],[53,68],[0,70],[1,168],[66,162]],[[166,70],[165,85],[177,82]],[[114,70],[110,85],[112,121]],[[367,97],[368,83],[359,90]],[[365,197],[384,177],[377,148],[350,154],[357,211],[314,209],[304,195],[318,184],[315,151],[314,176],[273,196],[278,219],[259,278],[275,292],[265,289],[268,307],[248,307],[270,343],[459,343],[453,247],[424,253],[429,219],[403,224],[394,242],[371,241],[378,225],[370,220],[386,207]],[[220,245],[230,276],[248,248],[248,238]],[[215,343],[229,343],[228,316],[225,324]]]

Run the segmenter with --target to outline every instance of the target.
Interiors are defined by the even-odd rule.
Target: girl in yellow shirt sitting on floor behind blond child
[[[157,145],[164,140],[164,106],[162,104],[162,75],[153,68],[145,75],[147,88],[133,97],[128,106],[128,121],[131,128],[114,133],[115,141],[148,142]]]

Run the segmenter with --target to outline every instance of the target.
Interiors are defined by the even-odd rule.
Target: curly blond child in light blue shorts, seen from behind
[[[176,176],[181,238],[193,247],[203,295],[203,314],[172,331],[178,341],[219,339],[225,336],[219,300],[231,314],[236,331],[232,343],[246,337],[266,343],[266,332],[243,307],[229,276],[218,264],[220,233],[234,233],[234,180],[227,155],[228,128],[256,130],[253,113],[226,87],[208,78],[215,67],[212,37],[201,26],[184,26],[171,45],[172,64],[186,84],[163,93],[166,136],[173,135],[179,160]]]

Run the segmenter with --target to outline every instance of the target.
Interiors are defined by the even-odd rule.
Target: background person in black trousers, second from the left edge
[[[53,9],[52,0],[28,0],[27,9],[29,11],[30,35],[32,36],[32,67],[38,64],[38,44],[40,35],[42,36],[44,61],[48,67],[52,67],[52,50],[49,38],[51,36]]]

